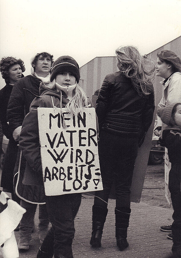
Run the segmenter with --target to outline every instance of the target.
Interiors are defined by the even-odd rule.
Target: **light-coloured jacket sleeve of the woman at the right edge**
[[[164,120],[164,111],[167,107],[172,105],[173,103],[181,102],[181,75],[175,74],[170,79],[167,91],[167,99],[165,103],[163,103],[163,99],[161,99],[160,103],[158,104],[157,114]]]

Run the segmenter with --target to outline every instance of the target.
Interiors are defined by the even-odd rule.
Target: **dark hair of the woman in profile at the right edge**
[[[171,64],[174,73],[181,72],[181,60],[176,53],[171,50],[162,50],[160,53],[157,53],[157,56],[162,62]]]

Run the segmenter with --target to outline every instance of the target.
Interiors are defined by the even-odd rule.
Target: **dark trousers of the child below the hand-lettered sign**
[[[46,196],[46,207],[52,227],[41,250],[55,257],[72,258],[72,240],[75,234],[74,218],[81,204],[81,193]]]

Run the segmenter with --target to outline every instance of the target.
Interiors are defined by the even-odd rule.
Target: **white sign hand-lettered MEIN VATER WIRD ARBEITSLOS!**
[[[73,117],[66,108],[38,108],[38,126],[46,195],[103,190],[94,108]]]

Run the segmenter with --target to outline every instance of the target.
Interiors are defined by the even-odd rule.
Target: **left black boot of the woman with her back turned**
[[[107,208],[96,205],[92,207],[92,237],[90,244],[93,247],[101,247],[101,238],[107,212]]]

